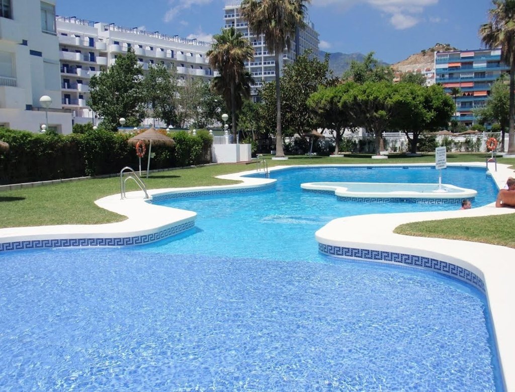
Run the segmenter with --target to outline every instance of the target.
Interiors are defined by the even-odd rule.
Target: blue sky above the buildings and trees
[[[238,3],[237,0],[228,4]],[[185,38],[210,40],[224,20],[224,0],[58,0],[56,13]],[[312,0],[308,12],[320,33],[320,49],[367,54],[388,63],[448,43],[482,47],[479,25],[491,0]]]

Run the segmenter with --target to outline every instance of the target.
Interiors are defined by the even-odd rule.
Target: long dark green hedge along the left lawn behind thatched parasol
[[[86,131],[70,135],[37,134],[0,128],[0,140],[9,151],[0,152],[0,185],[48,181],[118,173],[123,167],[139,167],[134,134]],[[152,145],[150,169],[184,167],[210,162],[213,138],[207,130],[193,136],[185,131],[170,133],[175,146]],[[148,142],[147,153],[148,154]],[[147,155],[142,158],[146,168]]]

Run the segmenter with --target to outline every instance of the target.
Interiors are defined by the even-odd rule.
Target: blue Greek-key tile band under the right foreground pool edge
[[[333,246],[318,244],[318,250],[328,256],[352,257],[371,261],[390,261],[403,266],[424,268],[449,275],[466,283],[472,284],[475,288],[486,293],[485,282],[473,272],[456,264],[447,261],[437,260],[430,257],[408,255],[405,253],[373,251],[368,249],[349,248],[345,246]]]

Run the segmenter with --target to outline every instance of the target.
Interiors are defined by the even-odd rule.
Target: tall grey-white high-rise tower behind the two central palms
[[[256,100],[258,89],[265,83],[275,80],[275,60],[273,53],[269,53],[266,47],[263,35],[258,37],[249,30],[247,22],[241,15],[241,4],[227,5],[224,8],[224,21],[225,28],[234,27],[237,31],[243,33],[252,46],[254,46],[254,60],[247,62],[249,72],[255,80],[255,84],[251,88],[251,95]],[[313,55],[318,57],[319,50],[318,32],[315,30],[315,25],[309,20],[306,15],[306,26],[303,29],[297,29],[295,37],[291,40],[291,47],[284,52],[283,58],[279,61],[281,72],[284,64],[295,61],[296,57],[302,55],[307,49],[311,49]]]

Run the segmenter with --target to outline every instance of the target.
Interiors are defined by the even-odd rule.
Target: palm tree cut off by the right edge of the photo
[[[515,0],[492,0],[489,22],[479,28],[481,41],[501,48],[501,59],[510,67],[508,154],[515,154]]]

